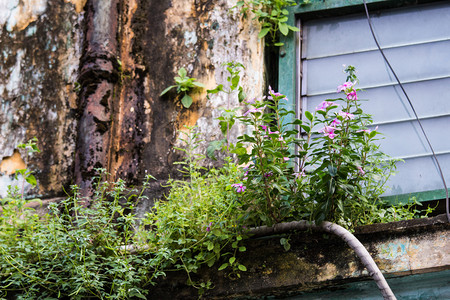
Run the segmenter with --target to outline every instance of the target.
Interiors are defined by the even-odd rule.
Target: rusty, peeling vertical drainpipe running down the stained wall
[[[79,125],[75,183],[81,195],[92,195],[96,168],[108,169],[112,107],[119,78],[117,30],[119,0],[88,0],[85,41],[80,61]],[[85,205],[89,201],[86,200]]]

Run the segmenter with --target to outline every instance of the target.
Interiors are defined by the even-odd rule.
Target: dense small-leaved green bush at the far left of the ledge
[[[109,184],[98,177],[91,207],[79,204],[74,186],[73,195],[51,204],[43,217],[0,215],[0,296],[145,299],[153,275],[148,254],[121,248],[132,240],[133,203],[142,198],[128,193],[122,180]],[[14,205],[6,203],[3,212],[14,212]]]

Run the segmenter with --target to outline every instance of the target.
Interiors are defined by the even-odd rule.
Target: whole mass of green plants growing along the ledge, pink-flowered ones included
[[[227,94],[243,93],[241,66],[227,66]],[[236,120],[252,130],[230,147],[240,165],[226,157],[221,168],[202,167],[201,141],[195,128],[187,128],[184,147],[177,148],[185,153],[177,163],[185,178],[170,179],[170,193],[142,220],[134,206],[145,198],[150,175],[136,192],[122,180],[105,182],[104,171],[98,170],[102,175],[96,177],[90,207],[80,205],[79,188],[73,186],[72,195],[51,204],[43,217],[26,210],[23,194],[10,188],[1,203],[0,297],[145,299],[150,286],[170,271],[186,272],[201,294],[213,287],[193,275],[203,266],[218,266],[232,278],[247,270],[239,261],[245,238],[268,228],[249,231],[250,226],[306,219],[317,225],[295,222],[298,228],[342,235],[340,226],[322,221],[352,228],[413,217],[418,212],[414,199],[392,207],[380,199],[394,161],[375,144],[379,133],[368,128],[372,119],[359,106],[355,70],[347,72],[347,82],[338,87],[345,98],[322,102],[303,120],[286,123],[294,112],[280,108],[285,96],[272,89],[268,97],[247,101],[252,108],[242,116],[219,119],[226,132]],[[240,102],[245,98],[239,97]],[[38,151],[35,143],[21,147]],[[289,236],[280,243],[290,249]]]

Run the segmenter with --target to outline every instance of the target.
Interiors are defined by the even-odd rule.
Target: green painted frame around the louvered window
[[[418,0],[414,3],[407,0],[366,0],[369,11],[430,2],[437,2],[437,0]],[[364,2],[363,0],[311,0],[308,4],[298,4],[289,7],[288,10],[288,25],[299,26],[302,21],[364,13]],[[301,67],[297,65],[300,62],[300,33],[282,36],[281,42],[284,46],[279,49],[278,89],[287,96],[288,101],[280,105],[286,109],[298,111],[297,95],[301,85]],[[292,119],[286,120],[286,122],[292,121]],[[387,196],[385,199],[392,203],[406,202],[411,196],[415,196],[419,202],[441,200],[445,199],[445,189]]]

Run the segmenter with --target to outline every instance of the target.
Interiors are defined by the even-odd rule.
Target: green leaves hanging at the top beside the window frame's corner
[[[308,4],[309,0],[302,1],[302,4]],[[244,17],[247,17],[248,11],[252,11],[261,24],[261,31],[258,38],[262,39],[269,36],[274,46],[283,46],[278,41],[278,33],[288,35],[290,31],[299,31],[295,26],[287,24],[289,11],[288,6],[297,5],[294,0],[243,0],[238,1],[238,8]]]

